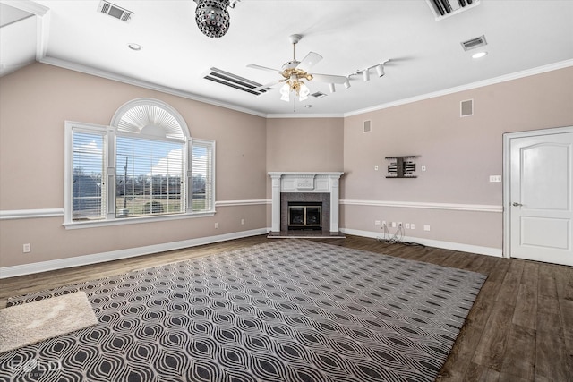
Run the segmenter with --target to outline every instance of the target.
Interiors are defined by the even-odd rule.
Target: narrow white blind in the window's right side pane
[[[192,211],[214,209],[215,142],[192,140]]]

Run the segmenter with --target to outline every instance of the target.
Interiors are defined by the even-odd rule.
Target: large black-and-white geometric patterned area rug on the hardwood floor
[[[98,325],[0,355],[0,380],[433,381],[486,276],[273,240],[51,291]]]

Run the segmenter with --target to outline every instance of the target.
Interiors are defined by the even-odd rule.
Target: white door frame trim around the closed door
[[[539,137],[543,135],[573,132],[573,126],[551,129],[531,130],[528,132],[503,133],[503,252],[502,257],[511,257],[511,140],[517,138]]]

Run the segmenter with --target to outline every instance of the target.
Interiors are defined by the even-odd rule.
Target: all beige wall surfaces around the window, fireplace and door
[[[343,229],[373,235],[381,233],[374,220],[402,221],[415,223],[406,232],[413,238],[500,250],[500,212],[381,204],[500,207],[501,183],[488,179],[502,171],[502,134],[573,125],[572,84],[573,68],[567,68],[346,118],[265,119],[32,64],[0,78],[0,210],[63,208],[64,121],[108,124],[119,106],[146,97],[175,107],[192,136],[217,141],[218,201],[270,199],[269,171],[344,171]],[[460,118],[459,102],[470,98],[475,115]],[[363,133],[364,120],[372,120],[372,132]],[[418,178],[386,179],[384,157],[410,154],[420,156]],[[61,216],[0,220],[0,267],[270,225],[269,205],[217,210],[213,217],[75,230],[66,230]],[[432,230],[424,232],[423,225]],[[25,242],[32,252],[23,255]]]

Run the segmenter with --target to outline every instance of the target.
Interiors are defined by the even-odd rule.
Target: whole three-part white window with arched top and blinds
[[[65,147],[66,226],[215,213],[215,142],[162,101],[134,99],[111,126],[66,122]]]

